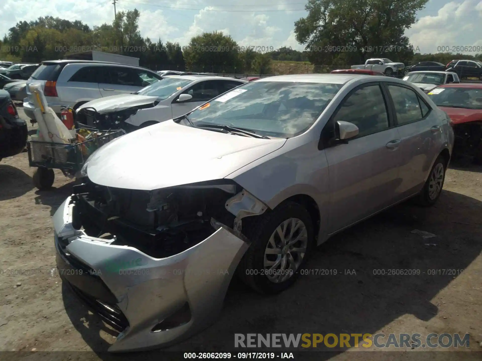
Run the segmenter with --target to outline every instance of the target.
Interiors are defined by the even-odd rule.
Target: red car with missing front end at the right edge
[[[443,84],[428,92],[450,116],[455,133],[454,155],[482,163],[482,83]]]

